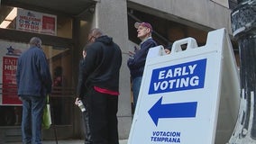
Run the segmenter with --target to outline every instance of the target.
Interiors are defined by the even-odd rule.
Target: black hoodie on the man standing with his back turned
[[[82,97],[87,87],[97,86],[119,92],[119,71],[122,65],[122,52],[112,38],[104,35],[98,37],[87,48],[87,57],[78,77],[78,96]]]

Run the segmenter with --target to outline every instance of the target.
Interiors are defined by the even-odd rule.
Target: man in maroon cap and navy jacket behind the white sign
[[[133,90],[133,105],[137,104],[140,87],[142,84],[142,75],[148,55],[149,49],[158,46],[157,42],[152,39],[152,26],[150,23],[134,23],[134,27],[137,29],[137,37],[142,40],[140,49],[135,48],[134,52],[129,51],[130,58],[127,61],[127,66],[130,69],[132,78],[132,90]]]

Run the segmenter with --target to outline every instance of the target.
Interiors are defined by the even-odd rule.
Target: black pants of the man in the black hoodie
[[[94,88],[88,91],[87,110],[93,144],[119,144],[117,108],[118,95],[98,93]]]

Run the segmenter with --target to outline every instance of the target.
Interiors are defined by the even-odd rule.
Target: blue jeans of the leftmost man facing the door
[[[45,96],[21,95],[23,144],[41,144],[41,120]]]

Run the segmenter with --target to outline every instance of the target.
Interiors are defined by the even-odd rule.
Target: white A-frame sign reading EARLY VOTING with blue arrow
[[[187,49],[182,50],[184,44]],[[203,47],[187,38],[175,41],[169,55],[161,50],[159,46],[149,51],[128,144],[228,142],[240,85],[225,30],[209,32]]]

